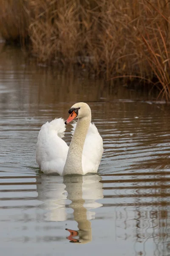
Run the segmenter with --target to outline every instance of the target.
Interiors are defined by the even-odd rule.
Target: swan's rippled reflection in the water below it
[[[88,176],[45,176],[37,177],[38,200],[45,210],[46,221],[66,221],[66,207],[72,208],[73,218],[78,223],[78,230],[66,229],[70,232],[71,242],[88,243],[92,240],[91,222],[95,212],[90,211],[101,207],[96,200],[103,198],[102,177]],[[70,203],[71,201],[71,203]],[[71,227],[70,227],[71,228]]]

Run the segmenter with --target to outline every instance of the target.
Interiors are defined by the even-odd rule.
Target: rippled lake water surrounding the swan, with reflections
[[[0,255],[170,255],[170,105],[0,50]],[[41,125],[80,101],[104,141],[98,175],[40,174]]]

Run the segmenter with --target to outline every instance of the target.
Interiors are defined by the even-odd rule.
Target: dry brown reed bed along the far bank
[[[0,33],[42,63],[143,79],[170,100],[169,0],[1,0]]]

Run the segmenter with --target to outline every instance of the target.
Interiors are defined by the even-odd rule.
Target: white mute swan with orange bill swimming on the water
[[[97,172],[103,154],[103,140],[96,126],[91,124],[91,109],[88,104],[79,102],[68,111],[64,122],[54,119],[42,125],[38,134],[36,160],[45,174],[59,175]],[[78,118],[73,125],[70,146],[65,143],[65,124]]]

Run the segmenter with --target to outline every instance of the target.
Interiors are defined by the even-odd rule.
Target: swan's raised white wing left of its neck
[[[64,132],[65,123],[62,118],[46,122],[41,127],[36,147],[36,160],[45,174],[57,172],[62,175],[68,153],[68,145],[62,140]]]

